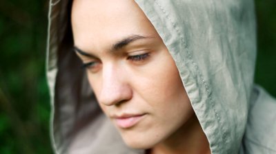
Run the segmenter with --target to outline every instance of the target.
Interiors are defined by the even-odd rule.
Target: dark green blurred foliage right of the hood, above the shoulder
[[[276,1],[255,0],[258,54],[255,83],[276,96]]]

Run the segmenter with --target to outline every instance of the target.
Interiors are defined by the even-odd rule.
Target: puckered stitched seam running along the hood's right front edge
[[[179,34],[179,36],[181,37],[181,43],[183,43],[184,44],[184,48],[187,49],[186,42],[184,41],[184,36],[181,34],[181,32],[179,31],[179,29],[177,28],[177,24],[174,23],[172,21],[172,19],[170,19],[168,13],[164,10],[164,8],[162,8],[162,6],[160,5],[160,3],[157,0],[155,0],[155,3],[157,3],[157,5],[161,9],[161,11],[164,12],[164,14],[166,15],[167,19],[169,19],[170,23],[172,23],[173,28],[176,30],[177,34]],[[212,107],[213,107],[213,109],[215,111],[215,116],[216,116],[217,121],[219,122],[219,126],[221,128],[221,126],[222,126],[222,124],[221,124],[221,118],[220,118],[219,113],[215,109],[215,103],[214,103],[214,101],[213,101],[213,99],[211,97],[210,87],[206,83],[206,80],[204,80],[204,77],[202,76],[201,72],[199,72],[199,67],[198,67],[197,63],[195,63],[195,61],[193,60],[193,56],[190,54],[190,51],[189,50],[186,50],[186,51],[187,51],[189,60],[193,63],[193,66],[195,67],[195,69],[197,70],[197,73],[199,74],[199,78],[200,78],[201,82],[204,84],[204,87],[205,87],[205,89],[207,91],[208,99],[211,102],[211,105],[212,105]],[[222,140],[224,141],[224,144],[226,144],[226,133],[225,133],[225,131],[222,131],[222,133],[223,133]]]

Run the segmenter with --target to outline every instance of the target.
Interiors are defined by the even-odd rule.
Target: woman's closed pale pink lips
[[[115,118],[116,124],[122,129],[128,129],[132,126],[135,126],[142,118],[144,118],[145,114],[139,115],[122,115]]]

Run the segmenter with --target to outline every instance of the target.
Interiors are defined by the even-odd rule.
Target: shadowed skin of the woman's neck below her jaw
[[[150,150],[150,154],[207,154],[210,153],[206,135],[195,114],[164,142]]]

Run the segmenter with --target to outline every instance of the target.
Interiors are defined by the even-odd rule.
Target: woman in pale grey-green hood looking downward
[[[275,100],[253,85],[253,8],[250,0],[52,1],[55,151],[275,152]]]

